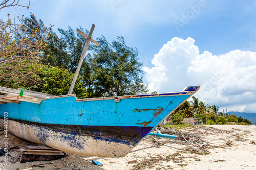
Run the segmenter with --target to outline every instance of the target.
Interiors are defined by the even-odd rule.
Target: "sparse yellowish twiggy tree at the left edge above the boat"
[[[35,74],[41,67],[45,48],[49,37],[49,29],[42,29],[44,23],[32,23],[19,19],[13,23],[0,20],[0,80],[15,87],[13,82],[36,84]]]

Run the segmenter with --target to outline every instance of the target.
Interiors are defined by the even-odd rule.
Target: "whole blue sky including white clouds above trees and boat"
[[[103,35],[112,41],[123,36],[128,46],[138,48],[150,90],[200,85],[196,97],[205,103],[256,112],[255,9],[256,2],[250,0],[32,0],[29,10],[5,8],[0,17],[31,12],[46,26],[55,25],[56,32],[68,26],[90,30],[94,23],[94,38]]]

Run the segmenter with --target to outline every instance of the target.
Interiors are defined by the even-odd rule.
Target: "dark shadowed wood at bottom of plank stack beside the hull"
[[[33,161],[51,161],[65,157],[66,155],[26,155],[20,157],[20,163],[33,162]]]

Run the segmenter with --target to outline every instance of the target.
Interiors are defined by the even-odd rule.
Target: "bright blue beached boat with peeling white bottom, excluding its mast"
[[[123,157],[198,90],[76,99],[0,87],[0,127],[61,151]]]

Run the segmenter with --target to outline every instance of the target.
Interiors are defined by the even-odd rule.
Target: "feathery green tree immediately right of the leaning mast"
[[[105,37],[97,38],[99,46],[92,50],[92,68],[96,81],[96,96],[130,95],[146,93],[143,84],[142,63],[138,62],[138,51],[125,45],[124,38],[109,43]]]

